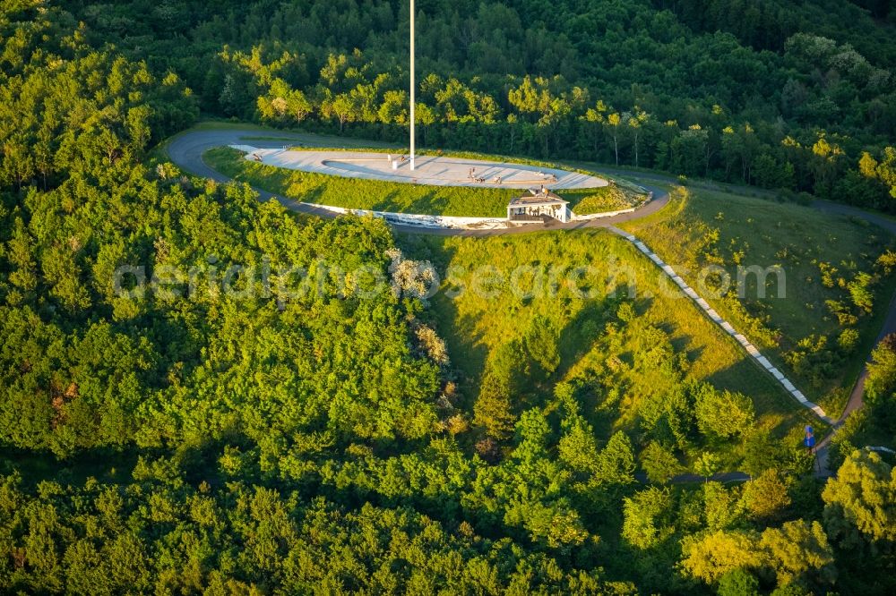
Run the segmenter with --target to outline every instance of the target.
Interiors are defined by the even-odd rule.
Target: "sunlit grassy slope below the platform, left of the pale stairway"
[[[508,345],[554,336],[556,370],[519,372],[514,400],[521,407],[550,403],[560,386],[587,387],[599,433],[626,430],[637,436],[644,404],[666,399],[680,374],[749,396],[758,424],[778,435],[798,432],[803,421],[817,426],[650,260],[614,234],[401,234],[399,242],[410,258],[431,260],[447,272],[423,316],[444,337],[457,390],[468,405],[489,363]],[[629,279],[636,289],[631,300]],[[737,465],[733,452],[726,459]]]

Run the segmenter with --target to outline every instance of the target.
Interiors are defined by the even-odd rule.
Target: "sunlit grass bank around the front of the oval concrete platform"
[[[299,172],[247,161],[236,149],[221,147],[203,159],[221,174],[289,199],[349,209],[373,209],[459,217],[505,217],[507,202],[520,190],[468,186],[424,186],[380,180]],[[478,154],[462,157],[484,158]],[[627,209],[641,197],[631,189],[611,184],[597,189],[559,194],[580,215]]]

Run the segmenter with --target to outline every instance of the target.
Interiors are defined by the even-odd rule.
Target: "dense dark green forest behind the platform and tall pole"
[[[405,138],[406,2],[72,4],[210,114]],[[896,12],[861,4],[421,1],[421,140],[892,209]]]

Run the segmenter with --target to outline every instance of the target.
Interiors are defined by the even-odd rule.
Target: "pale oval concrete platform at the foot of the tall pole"
[[[553,191],[600,188],[609,184],[603,178],[569,170],[481,159],[419,156],[417,167],[411,170],[409,161],[401,161],[402,157],[406,157],[402,154],[393,153],[390,156],[386,153],[362,151],[259,149],[251,145],[231,147],[246,152],[247,160],[267,166],[394,183],[514,189],[528,189],[544,184]],[[470,170],[475,170],[474,178],[484,182],[470,179]],[[497,178],[500,178],[500,183],[496,181]]]

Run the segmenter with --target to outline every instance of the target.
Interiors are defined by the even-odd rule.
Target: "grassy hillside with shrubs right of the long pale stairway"
[[[623,227],[695,288],[715,268],[702,292],[713,308],[839,416],[896,282],[884,263],[893,256],[890,234],[776,200],[698,189],[673,196],[668,209]],[[738,266],[769,268],[764,298],[753,274],[738,296]],[[713,297],[722,270],[731,284]]]

